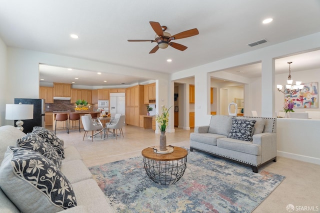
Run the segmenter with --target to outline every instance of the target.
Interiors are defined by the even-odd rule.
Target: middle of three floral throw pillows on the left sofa
[[[27,133],[22,138],[17,139],[16,142],[19,147],[37,151],[51,160],[57,167],[61,166],[61,158],[56,150],[36,133]]]

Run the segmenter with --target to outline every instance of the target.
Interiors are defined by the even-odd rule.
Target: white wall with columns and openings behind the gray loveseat
[[[195,96],[197,97],[195,99],[196,102],[194,107],[194,112],[196,114],[195,125],[206,125],[210,119],[210,116],[207,114],[206,111],[208,95],[205,92],[206,90],[209,90],[210,87],[209,84],[207,85],[207,73],[212,73],[213,75],[215,74],[215,71],[223,70],[228,67],[240,66],[243,64],[250,64],[257,61],[262,61],[262,69],[264,69],[264,76],[266,76],[267,78],[266,81],[269,82],[270,79],[273,78],[272,73],[265,73],[267,72],[265,71],[265,69],[270,69],[270,72],[272,72],[272,69],[274,69],[274,58],[282,57],[293,53],[314,50],[316,48],[320,48],[320,32],[288,40],[264,48],[256,49],[243,54],[238,54],[232,57],[224,58],[218,61],[210,62],[179,72],[175,72],[171,74],[171,80],[181,79],[183,77],[187,78],[194,75],[194,84],[196,86],[195,88],[198,88],[195,89]],[[224,75],[226,74],[224,73]],[[313,76],[308,75],[308,78],[312,79]],[[307,79],[308,82],[310,81],[309,79]],[[276,82],[262,84],[262,82],[264,82],[263,80],[256,79],[253,80],[251,83],[251,81],[248,82],[247,79],[240,79],[239,77],[237,77],[236,81],[243,81],[243,83],[248,84],[248,91],[244,91],[244,113],[247,114],[250,113],[251,110],[256,110],[258,112],[258,115],[260,116],[275,116],[275,95],[278,95],[275,94],[275,92],[277,92],[275,87]],[[249,103],[253,104],[250,105]],[[205,108],[203,110],[203,108],[199,108],[197,106],[204,106]]]

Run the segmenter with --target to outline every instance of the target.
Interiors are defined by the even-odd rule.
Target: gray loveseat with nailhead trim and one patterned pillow
[[[237,123],[241,120],[251,122],[244,125],[253,125],[251,133],[239,128]],[[190,133],[190,151],[203,151],[244,164],[257,173],[264,163],[276,161],[275,125],[276,119],[270,117],[212,115],[209,125],[195,126]],[[242,140],[245,133],[246,140]]]

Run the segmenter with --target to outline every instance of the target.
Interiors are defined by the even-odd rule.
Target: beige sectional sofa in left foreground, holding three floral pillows
[[[47,160],[52,169],[47,169],[48,173],[43,176],[51,177],[58,172],[62,173],[57,179],[62,178],[61,176],[64,175],[64,177],[68,180],[69,187],[62,187],[59,190],[52,190],[52,194],[63,194],[61,190],[65,190],[66,192],[68,190],[71,191],[72,189],[74,192],[73,195],[68,195],[67,198],[73,201],[76,200],[76,206],[74,206],[75,202],[73,203],[72,201],[66,203],[70,206],[69,208],[62,208],[59,205],[52,203],[51,200],[45,197],[42,193],[42,191],[48,190],[47,188],[38,189],[30,184],[30,182],[22,180],[23,178],[17,175],[19,173],[16,174],[12,172],[14,169],[19,169],[19,166],[14,166],[14,163],[18,161],[14,161],[13,158],[15,155],[17,158],[20,157],[22,159],[22,165],[25,164],[23,158],[24,152],[28,152],[27,154],[30,156],[34,155],[39,157],[37,154],[32,152],[32,150],[27,151],[21,148],[16,148],[17,140],[25,135],[25,133],[18,130],[14,126],[0,126],[0,212],[114,212],[109,204],[110,201],[104,196],[96,181],[92,179],[90,171],[81,160],[81,156],[74,146],[70,145],[63,147],[64,159],[57,160],[60,161],[59,168],[56,168],[55,164],[52,164],[53,161]],[[41,159],[46,161],[46,158]],[[28,173],[36,173],[35,169],[42,168],[43,166],[41,164],[31,164],[31,162],[32,159],[28,164],[29,167],[26,167],[24,171],[27,171]],[[10,164],[12,165],[12,168],[10,168]],[[31,165],[33,165],[33,167],[31,167]],[[56,172],[52,171],[54,169],[57,169]],[[11,173],[11,176],[5,174],[5,172]],[[35,177],[28,178],[33,180],[32,178]],[[16,183],[14,181],[16,181]],[[61,181],[60,184],[62,183],[64,182]],[[8,184],[13,184],[14,186],[8,187]],[[67,186],[67,184],[65,184],[65,186]],[[37,196],[40,196],[40,198],[37,198]],[[39,200],[43,201],[37,203]],[[38,205],[41,206],[39,207]]]

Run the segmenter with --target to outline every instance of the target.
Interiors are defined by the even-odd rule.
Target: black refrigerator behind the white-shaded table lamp
[[[32,132],[33,126],[44,126],[44,99],[14,98],[14,104],[33,104],[33,119],[22,120],[23,132]],[[16,120],[14,120],[14,126]]]

